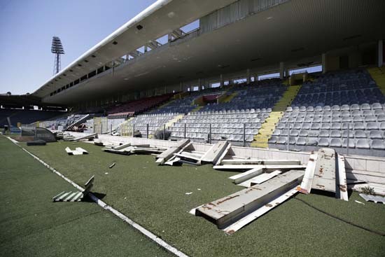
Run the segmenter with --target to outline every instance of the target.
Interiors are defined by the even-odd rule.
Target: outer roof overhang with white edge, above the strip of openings
[[[158,0],[144,11],[132,18],[96,46],[81,55],[68,67],[50,78],[41,88],[34,92],[38,97],[49,95],[55,89],[70,83],[85,74],[104,66],[126,55],[132,50],[144,46],[148,41],[155,40],[187,25],[198,18],[215,11],[223,6],[228,6],[236,0],[195,0],[174,1]],[[142,29],[137,29],[141,25]],[[113,42],[117,44],[113,44]],[[95,56],[95,57],[93,57]],[[86,62],[87,61],[87,62]],[[81,66],[78,66],[80,64]],[[72,71],[70,71],[72,70]],[[65,76],[64,76],[65,74]]]

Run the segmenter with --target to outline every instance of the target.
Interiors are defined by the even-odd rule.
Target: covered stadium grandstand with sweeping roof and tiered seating
[[[144,114],[130,124],[167,123],[172,139],[346,151],[349,131],[353,152],[381,155],[381,1],[349,1],[353,10],[344,4],[213,1],[179,8],[176,1],[158,1],[29,97],[64,106],[68,116]],[[363,19],[358,10],[370,15]],[[13,116],[15,122],[47,118],[18,113],[29,119]],[[169,113],[179,119],[160,124],[160,116],[174,117]]]

